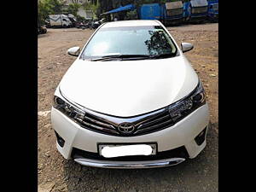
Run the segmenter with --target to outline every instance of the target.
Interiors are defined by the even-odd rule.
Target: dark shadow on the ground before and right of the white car
[[[218,124],[210,124],[207,147],[193,160],[151,169],[102,169],[64,162],[67,191],[218,191]]]

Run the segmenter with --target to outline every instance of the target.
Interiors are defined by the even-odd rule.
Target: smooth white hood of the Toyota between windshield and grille
[[[180,55],[140,61],[77,59],[59,87],[63,96],[84,108],[131,117],[177,102],[197,84],[197,74]]]

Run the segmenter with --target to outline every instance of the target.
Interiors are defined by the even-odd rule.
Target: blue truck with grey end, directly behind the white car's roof
[[[137,8],[139,20],[160,20],[164,25],[183,21],[182,1],[143,4]]]

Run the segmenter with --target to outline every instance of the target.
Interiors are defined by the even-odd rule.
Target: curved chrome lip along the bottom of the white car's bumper
[[[91,160],[85,158],[74,159],[82,166],[93,166],[99,168],[113,169],[143,169],[156,168],[164,166],[176,166],[184,161],[184,158],[171,158],[165,160],[145,160],[145,161],[106,161],[106,160]]]

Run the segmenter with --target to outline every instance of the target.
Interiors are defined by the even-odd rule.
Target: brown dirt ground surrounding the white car
[[[218,23],[168,27],[178,44],[194,49],[185,55],[204,84],[210,107],[207,147],[193,160],[177,166],[114,170],[80,166],[65,160],[55,148],[50,108],[55,88],[75,57],[73,46],[83,47],[93,30],[48,29],[38,35],[38,191],[98,192],[215,192],[218,191]]]

